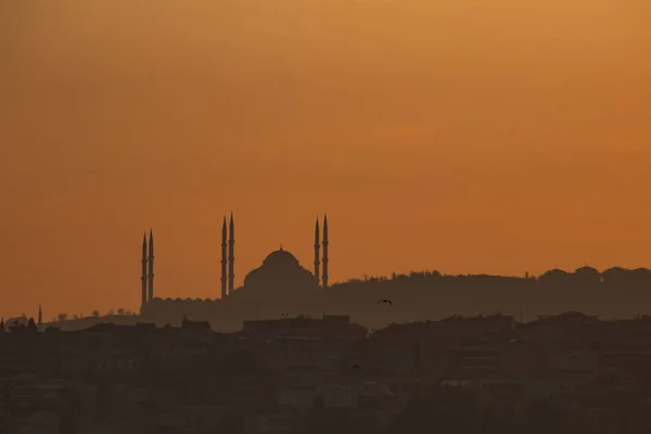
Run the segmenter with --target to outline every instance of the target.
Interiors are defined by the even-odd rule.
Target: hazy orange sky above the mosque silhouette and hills
[[[538,3],[538,4],[532,4]],[[331,280],[651,266],[647,0],[0,2],[0,315]]]

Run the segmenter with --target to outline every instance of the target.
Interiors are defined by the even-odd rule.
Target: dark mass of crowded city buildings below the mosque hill
[[[578,312],[394,324],[346,316],[216,333],[0,323],[2,433],[413,434],[651,430],[651,319]]]

